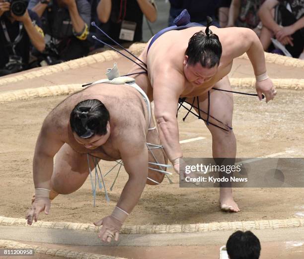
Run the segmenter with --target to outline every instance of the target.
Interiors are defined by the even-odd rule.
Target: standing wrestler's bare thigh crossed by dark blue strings
[[[228,76],[225,76],[219,82],[214,85],[215,88],[223,89],[223,90],[231,90],[230,82]],[[208,112],[208,92],[199,96],[199,107],[202,111],[200,112],[200,116],[207,120],[207,112]],[[193,102],[193,98],[187,98],[186,101],[188,103]],[[197,107],[197,99],[195,99],[194,106]],[[197,113],[199,111],[195,109]],[[232,93],[219,91],[219,90],[210,90],[210,117],[209,122],[225,129],[228,129],[228,125],[232,127],[232,113],[233,113],[233,96]],[[220,122],[219,122],[220,121]],[[221,123],[222,122],[222,123]],[[210,129],[211,133],[215,131],[223,131],[223,129],[219,129],[215,126],[209,125],[207,126]]]

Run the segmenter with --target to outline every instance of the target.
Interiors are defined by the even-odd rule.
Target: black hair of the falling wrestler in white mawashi
[[[102,102],[88,99],[78,103],[70,115],[73,132],[81,138],[93,135],[105,135],[110,114]]]

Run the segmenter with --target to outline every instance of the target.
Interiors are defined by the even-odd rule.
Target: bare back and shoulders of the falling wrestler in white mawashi
[[[69,124],[70,114],[76,104],[87,99],[100,100],[110,113],[110,137],[105,144],[96,149],[86,149],[79,144],[75,140]],[[120,159],[117,146],[125,138],[130,138],[131,134],[135,134],[138,141],[146,142],[147,106],[141,94],[128,85],[105,83],[93,85],[65,99],[48,117],[63,142],[68,143],[78,153],[90,153],[102,160]]]

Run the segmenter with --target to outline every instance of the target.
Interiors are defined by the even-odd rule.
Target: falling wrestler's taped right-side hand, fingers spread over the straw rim
[[[115,241],[118,241],[120,228],[123,223],[114,218],[112,215],[94,222],[93,224],[95,226],[102,225],[102,228],[98,233],[98,237],[101,239],[101,241],[110,243],[113,237],[115,237]]]

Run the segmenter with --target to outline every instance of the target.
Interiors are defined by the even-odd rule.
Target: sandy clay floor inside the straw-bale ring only
[[[253,92],[253,89],[238,89]],[[46,115],[67,96],[32,99],[1,105],[1,207],[0,215],[25,217],[34,193],[32,159],[35,142]],[[275,101],[268,104],[256,97],[234,95],[233,130],[237,139],[238,157],[261,157],[280,153],[278,157],[301,157],[304,145],[304,93],[280,90]],[[187,157],[211,157],[211,134],[202,121],[189,115],[182,121],[185,111],[178,117],[180,139],[206,137],[184,143]],[[302,143],[302,144],[301,144]],[[103,173],[113,162],[101,161]],[[105,183],[111,186],[116,171]],[[172,172],[172,170],[171,170]],[[184,224],[221,221],[247,221],[259,219],[286,219],[304,213],[304,191],[295,189],[248,188],[234,189],[239,213],[220,211],[218,189],[179,188],[178,176],[173,184],[166,179],[159,186],[147,186],[142,197],[125,224]],[[59,195],[53,202],[50,215],[40,214],[40,220],[65,222],[93,222],[109,215],[127,181],[121,171],[107,204],[104,192],[97,191],[96,207],[92,204],[91,183],[88,178],[75,193]]]

